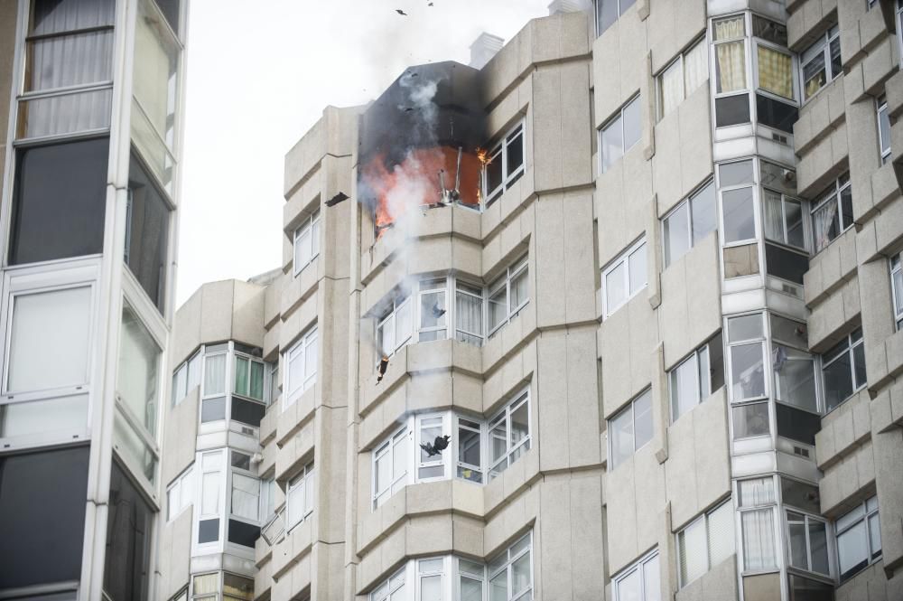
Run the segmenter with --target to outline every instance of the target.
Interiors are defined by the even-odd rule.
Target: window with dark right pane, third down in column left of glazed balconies
[[[668,372],[672,421],[708,399],[723,385],[724,358],[719,333]]]

